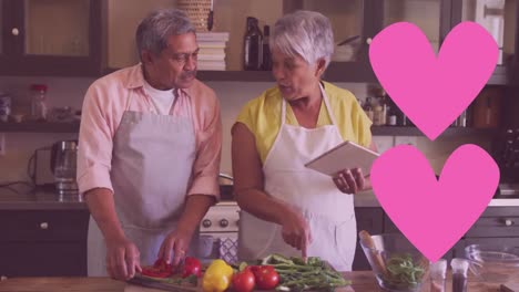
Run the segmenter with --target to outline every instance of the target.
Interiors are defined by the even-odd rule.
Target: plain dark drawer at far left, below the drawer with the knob
[[[85,277],[86,241],[0,242],[0,275]]]

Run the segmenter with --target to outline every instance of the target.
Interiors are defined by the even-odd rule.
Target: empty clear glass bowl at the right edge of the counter
[[[486,282],[503,283],[519,277],[519,248],[471,244],[465,248],[470,271]]]

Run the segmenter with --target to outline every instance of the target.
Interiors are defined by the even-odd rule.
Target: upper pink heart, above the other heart
[[[436,58],[420,29],[398,22],[374,38],[369,61],[398,107],[434,140],[476,98],[498,53],[482,27],[462,22],[450,31]]]

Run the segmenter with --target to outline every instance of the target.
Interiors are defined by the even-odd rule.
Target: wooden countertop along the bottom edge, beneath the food
[[[380,291],[372,271],[346,272],[345,278],[353,281],[352,288],[355,291]],[[518,280],[519,281],[519,280]],[[11,278],[0,282],[0,292],[123,292],[128,284],[114,281],[109,278]],[[139,291],[156,291],[150,289],[138,289]],[[133,289],[133,291],[136,291]],[[423,289],[428,292],[428,285]],[[447,283],[447,291],[451,291],[450,282]],[[478,282],[469,279],[469,292],[499,292],[499,284]]]

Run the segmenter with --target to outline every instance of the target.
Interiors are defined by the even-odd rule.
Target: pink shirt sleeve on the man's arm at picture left
[[[93,188],[113,191],[110,179],[112,131],[106,116],[102,90],[92,84],[84,97],[78,149],[78,186],[80,194]]]

